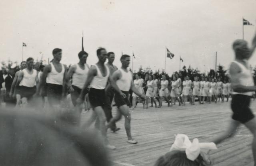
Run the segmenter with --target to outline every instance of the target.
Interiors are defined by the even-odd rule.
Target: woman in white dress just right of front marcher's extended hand
[[[155,98],[155,93],[154,93],[154,80],[152,80],[152,76],[151,75],[148,75],[148,81],[147,81],[147,85],[146,87],[148,88],[147,89],[147,92],[146,92],[146,109],[148,109],[148,101],[150,100],[153,100],[154,104],[155,104],[155,107],[156,106],[156,98]]]

